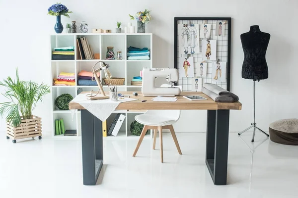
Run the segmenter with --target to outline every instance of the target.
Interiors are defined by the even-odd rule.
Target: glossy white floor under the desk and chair
[[[163,164],[150,140],[135,158],[137,139],[104,141],[98,185],[83,186],[80,141],[44,135],[12,144],[0,133],[0,198],[297,198],[298,147],[275,144],[260,133],[252,144],[251,135],[230,133],[227,186],[212,183],[205,133],[177,134],[181,156],[165,134]],[[253,162],[248,146],[257,147]]]

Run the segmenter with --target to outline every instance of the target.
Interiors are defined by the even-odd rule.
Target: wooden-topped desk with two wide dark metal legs
[[[152,101],[154,97],[121,92],[139,100],[123,102],[117,110],[180,109],[208,110],[206,135],[206,165],[215,185],[226,185],[229,110],[241,110],[240,102],[215,102],[201,92],[182,92],[175,102]],[[207,100],[189,100],[183,96],[199,95]],[[147,100],[142,102],[142,100]],[[81,105],[69,103],[70,109],[81,109],[83,184],[95,185],[103,165],[102,122]]]

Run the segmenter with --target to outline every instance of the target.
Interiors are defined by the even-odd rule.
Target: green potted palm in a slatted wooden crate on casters
[[[5,117],[7,123],[6,139],[32,138],[41,139],[41,118],[32,114],[38,101],[50,93],[50,87],[44,83],[37,84],[32,81],[21,81],[16,69],[16,80],[11,77],[0,81],[5,88],[2,95],[8,100],[0,103],[0,115]]]

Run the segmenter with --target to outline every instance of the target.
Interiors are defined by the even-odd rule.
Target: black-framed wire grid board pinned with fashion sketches
[[[187,24],[187,27],[186,25],[183,27],[183,24]],[[199,24],[199,27],[197,24]],[[207,25],[207,27],[204,27],[204,25]],[[196,31],[193,31],[192,34],[199,38],[198,46],[196,46],[196,43],[193,43],[195,47],[190,44],[190,37],[188,38],[189,40],[182,39],[182,34],[192,35],[190,27],[195,27]],[[182,30],[183,28],[184,30]],[[206,33],[206,36],[204,33]],[[195,85],[195,79],[198,78],[201,79],[202,84],[215,83],[229,91],[230,51],[230,17],[174,17],[174,68],[178,69],[180,74],[179,80],[175,85],[182,86],[183,91],[194,91],[195,87],[193,85]],[[194,76],[191,75],[192,68],[188,67],[186,77],[185,67],[183,67],[184,60],[181,60],[182,54],[187,57],[193,57]],[[190,61],[188,62],[191,64]],[[215,70],[217,69],[214,62],[223,62],[223,65],[221,64],[220,67],[221,70],[218,70],[217,80],[214,79],[216,77]],[[203,64],[201,65],[201,63]],[[220,75],[220,71],[222,71],[222,75]]]

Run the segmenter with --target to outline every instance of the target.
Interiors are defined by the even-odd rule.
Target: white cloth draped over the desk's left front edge
[[[79,103],[101,121],[105,121],[120,103],[137,100],[131,98],[123,98],[118,101],[111,101],[110,99],[89,100],[86,99],[86,95],[87,94],[79,94],[72,100],[72,102]]]

